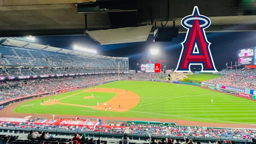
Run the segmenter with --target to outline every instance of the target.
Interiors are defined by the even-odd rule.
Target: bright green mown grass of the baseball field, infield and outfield
[[[116,89],[128,89],[140,97],[137,106],[131,110],[120,113],[94,110],[87,107],[67,105],[40,105],[42,99],[22,103],[13,111],[15,113],[42,113],[42,114],[67,114],[83,116],[111,116],[111,117],[136,117],[138,118],[165,118],[184,119],[200,122],[218,123],[249,123],[256,124],[256,102],[244,98],[219,93],[217,91],[202,89],[191,85],[179,85],[153,82],[153,81],[117,81],[96,87],[114,87]],[[96,101],[105,102],[115,94],[98,93],[92,99],[84,99],[84,96],[91,95],[90,92],[76,90],[66,92],[57,96],[51,96],[53,100],[74,95],[60,100],[63,103],[95,106]],[[103,99],[101,99],[103,97]],[[105,98],[106,97],[106,98]],[[105,98],[105,99],[104,99]],[[211,103],[213,99],[213,103]],[[23,105],[31,105],[23,107]],[[88,111],[88,112],[86,112]]]

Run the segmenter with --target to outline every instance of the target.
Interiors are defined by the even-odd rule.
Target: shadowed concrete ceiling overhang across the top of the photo
[[[96,0],[2,0],[0,37],[84,34],[85,15],[88,31],[113,28],[106,11],[78,13],[77,5],[89,2]],[[167,0],[137,0],[136,6],[138,24],[153,22],[151,32],[167,20]],[[194,6],[198,6],[200,14],[211,20],[206,32],[256,30],[255,7],[250,8],[250,12],[248,9],[245,11],[239,5],[239,0],[170,0],[169,6],[169,22],[166,27],[172,27],[171,21],[175,21],[180,33],[187,31],[181,26],[181,19],[191,15]]]

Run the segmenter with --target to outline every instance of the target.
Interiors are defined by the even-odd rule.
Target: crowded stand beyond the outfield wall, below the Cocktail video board
[[[256,70],[223,70],[218,74],[222,76],[206,82],[256,90]]]

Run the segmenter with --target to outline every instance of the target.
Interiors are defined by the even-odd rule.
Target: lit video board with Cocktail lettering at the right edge
[[[256,65],[256,47],[238,50],[239,65]]]

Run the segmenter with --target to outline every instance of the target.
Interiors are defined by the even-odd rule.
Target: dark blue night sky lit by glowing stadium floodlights
[[[153,34],[150,34],[148,41],[137,43],[124,43],[100,46],[87,36],[40,36],[36,37],[36,43],[50,44],[53,47],[72,49],[73,45],[92,48],[97,50],[97,54],[107,56],[129,57],[129,67],[138,68],[137,63],[145,64],[149,59],[167,60],[167,68],[175,69],[180,58],[182,45],[186,34],[178,34],[178,38],[173,38],[172,42],[153,42]],[[256,32],[221,32],[206,33],[210,43],[210,50],[216,68],[225,68],[228,61],[238,59],[237,51],[241,48],[256,46]],[[159,54],[153,58],[149,50],[158,48]]]

